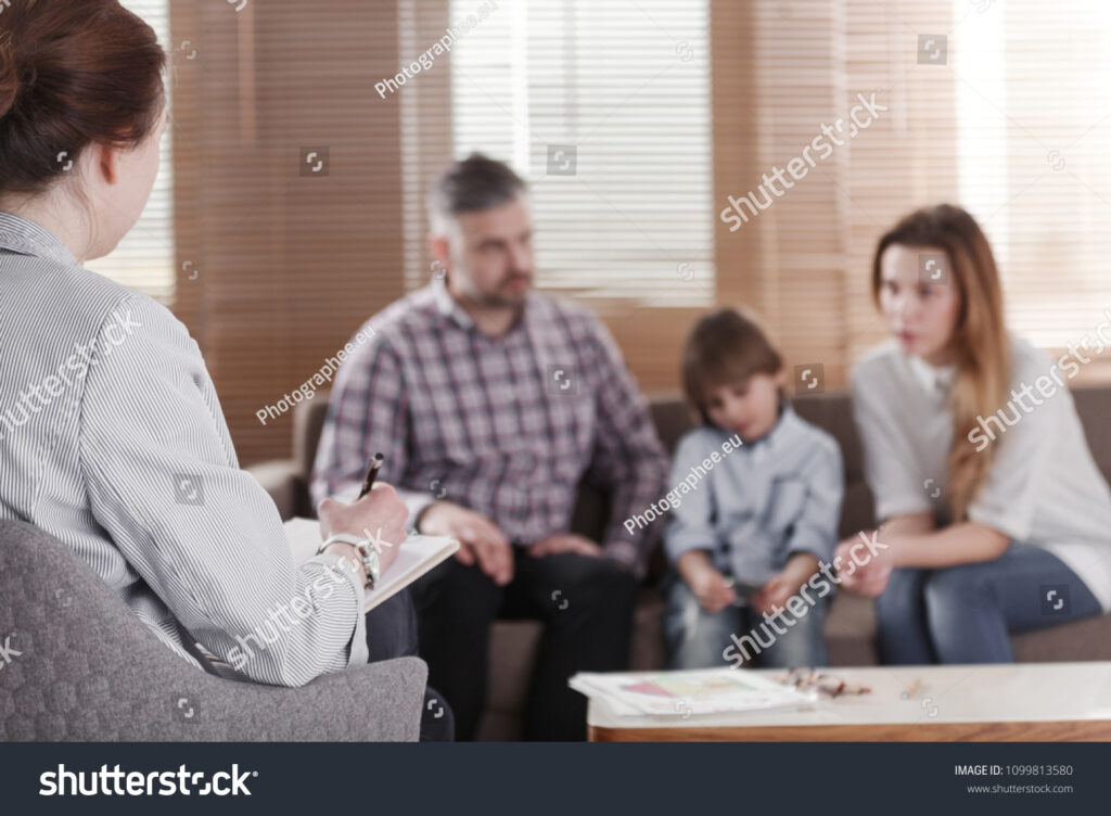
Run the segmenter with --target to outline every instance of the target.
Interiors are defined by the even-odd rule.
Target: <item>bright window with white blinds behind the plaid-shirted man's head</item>
[[[529,182],[540,287],[710,305],[707,0],[504,0],[478,20],[481,4],[450,3],[457,29],[477,19],[451,49],[451,153],[503,159]]]

